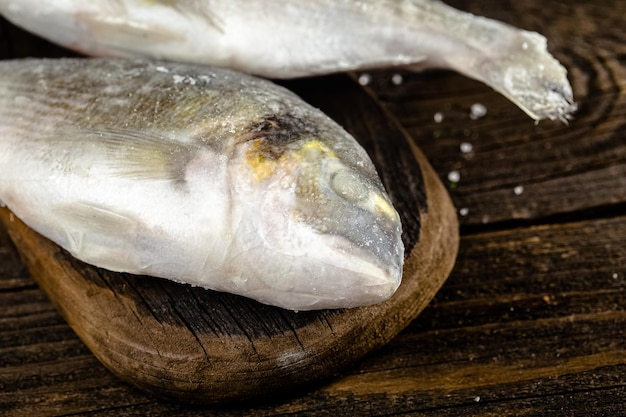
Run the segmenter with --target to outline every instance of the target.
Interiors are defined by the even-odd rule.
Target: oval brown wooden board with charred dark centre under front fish
[[[120,378],[189,402],[284,395],[337,374],[387,343],[451,271],[458,248],[456,213],[420,150],[346,76],[287,85],[351,131],[377,165],[403,221],[402,285],[392,299],[374,306],[292,312],[86,265],[1,209],[34,279]]]

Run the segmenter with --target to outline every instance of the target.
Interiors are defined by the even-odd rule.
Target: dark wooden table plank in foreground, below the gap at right
[[[563,407],[611,415],[626,389],[625,240],[626,217],[466,236],[433,303],[375,355],[308,395],[215,414],[377,415],[391,407],[424,415],[458,409],[516,415]],[[20,378],[11,373],[16,365],[2,368],[0,404],[22,415],[54,407],[102,415],[200,413],[116,381],[78,347],[69,328],[54,323],[23,340],[47,353],[23,355]],[[3,340],[0,351],[7,352]],[[42,403],[32,405],[33,397]]]

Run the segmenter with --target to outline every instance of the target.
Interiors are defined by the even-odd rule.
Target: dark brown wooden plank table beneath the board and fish
[[[449,3],[545,34],[579,111],[536,126],[456,74],[371,72],[365,88],[430,159],[461,223],[452,275],[402,333],[295,396],[169,403],[92,356],[0,229],[0,415],[626,415],[626,3]],[[0,42],[0,57],[58,52],[28,45]],[[470,118],[474,103],[484,117]]]

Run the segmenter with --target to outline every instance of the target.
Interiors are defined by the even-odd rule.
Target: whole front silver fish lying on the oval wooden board
[[[293,310],[388,299],[400,218],[367,153],[230,70],[0,61],[0,203],[75,257]]]

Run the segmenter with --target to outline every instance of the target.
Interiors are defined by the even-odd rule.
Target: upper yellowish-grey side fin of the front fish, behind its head
[[[74,148],[95,147],[102,158],[93,163],[112,176],[151,181],[184,182],[187,164],[198,147],[167,133],[123,128],[63,129],[57,137]]]

